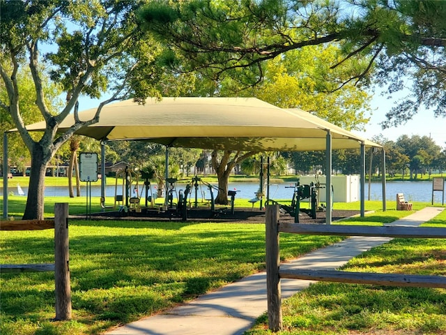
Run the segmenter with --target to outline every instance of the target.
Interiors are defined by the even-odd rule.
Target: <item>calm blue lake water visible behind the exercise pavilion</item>
[[[28,193],[27,186],[22,186],[25,194]],[[291,199],[293,196],[293,188],[286,188],[289,186],[294,186],[293,183],[283,183],[283,184],[271,184],[270,185],[270,198],[271,199]],[[382,200],[382,188],[381,183],[371,183],[371,200]],[[177,184],[176,189],[184,189],[185,184]],[[368,198],[369,185],[366,182],[365,185],[365,198]],[[251,199],[254,198],[254,193],[258,191],[259,184],[254,183],[229,183],[229,190],[238,191],[236,198],[240,199]],[[206,186],[201,186],[200,191],[208,191]],[[9,192],[13,192],[17,195],[17,185],[14,182],[10,182],[8,187]],[[155,186],[152,187],[153,193],[155,193]],[[192,190],[194,192],[194,189]],[[139,186],[139,192],[141,192],[141,186]],[[145,191],[144,191],[145,192]],[[266,193],[266,191],[265,191]],[[418,202],[431,202],[432,198],[432,181],[389,181],[386,184],[386,198],[387,200],[392,200],[396,197],[397,193],[404,193],[404,198],[407,201],[418,201]],[[118,185],[118,195],[122,193],[122,186]],[[150,194],[150,193],[149,193]],[[91,195],[94,197],[100,196],[100,186],[91,187]],[[115,186],[106,186],[105,191],[106,198],[114,198]],[[192,193],[194,195],[194,193]],[[47,187],[45,188],[45,196],[68,196],[68,188],[66,187]],[[86,196],[86,185],[81,186],[81,196]],[[136,190],[132,190],[131,196],[136,196]],[[434,192],[434,202],[442,202],[443,193],[440,191]],[[199,195],[201,197],[201,195]],[[359,197],[358,197],[359,198]]]

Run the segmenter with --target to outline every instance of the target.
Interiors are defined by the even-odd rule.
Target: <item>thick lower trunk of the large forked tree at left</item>
[[[24,210],[23,220],[43,220],[45,205],[45,172],[47,161],[40,145],[33,146],[31,151],[31,171],[29,173],[28,198]]]

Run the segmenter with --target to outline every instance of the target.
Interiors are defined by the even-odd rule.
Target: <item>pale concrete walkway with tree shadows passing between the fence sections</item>
[[[390,225],[417,226],[440,214],[444,208],[426,207]],[[282,268],[337,269],[364,251],[379,246],[388,237],[351,237],[337,244],[318,249]],[[311,281],[282,279],[282,297],[290,297],[307,288]],[[243,278],[236,283],[198,299],[178,306],[162,314],[132,322],[107,332],[107,335],[187,335],[243,334],[252,327],[256,318],[267,310],[266,273],[261,272]]]

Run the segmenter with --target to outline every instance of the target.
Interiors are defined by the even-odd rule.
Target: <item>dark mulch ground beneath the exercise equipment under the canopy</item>
[[[299,223],[325,223],[325,211],[316,212],[316,218],[311,218],[306,213],[301,213]],[[338,210],[332,211],[332,221],[348,218],[360,214],[360,211]],[[86,218],[85,215],[70,216],[70,218]],[[120,213],[118,211],[107,213],[91,214],[91,220],[133,220],[133,221],[183,221],[183,218],[176,210],[169,211],[144,211],[142,213]],[[294,217],[281,213],[281,222],[294,223]],[[237,208],[232,214],[231,208],[217,209],[210,211],[208,208],[189,209],[187,211],[187,221],[190,222],[243,222],[243,223],[265,223],[265,211],[251,208]]]

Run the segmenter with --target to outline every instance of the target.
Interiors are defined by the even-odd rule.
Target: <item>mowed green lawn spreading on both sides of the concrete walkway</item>
[[[65,201],[70,202],[70,214],[84,212],[84,199],[46,198],[46,216],[52,216],[54,202]],[[10,212],[20,216],[23,206],[22,198],[11,197]],[[99,210],[98,199],[94,206],[93,211]],[[340,206],[359,209],[359,203],[335,208]],[[389,202],[387,207],[392,206]],[[414,209],[424,206],[415,204]],[[348,223],[381,225],[408,214],[379,208],[380,202],[367,202],[367,210],[377,211]],[[436,225],[446,227],[445,222],[444,213]],[[73,319],[51,320],[55,316],[51,272],[1,274],[0,334],[98,334],[265,267],[261,224],[70,220],[69,234]],[[53,236],[52,230],[2,231],[0,262],[53,262]],[[281,257],[294,258],[340,239],[281,234]],[[360,265],[351,263],[352,271],[358,267],[399,271],[408,263],[417,273],[419,265],[429,261],[424,274],[446,275],[444,239],[399,241],[395,249],[377,248],[376,255],[359,258]],[[282,334],[446,334],[445,295],[445,290],[318,283],[286,301]],[[262,321],[264,317],[252,334],[266,334]]]

